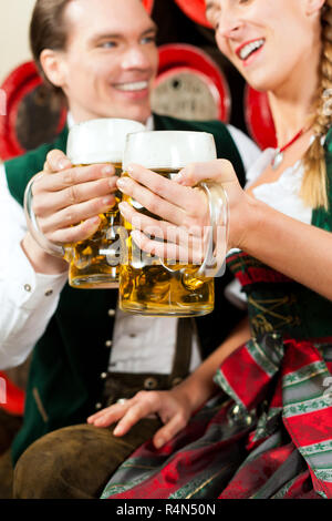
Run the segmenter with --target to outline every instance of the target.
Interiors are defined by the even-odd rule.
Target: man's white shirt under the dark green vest
[[[230,125],[228,129],[248,168],[259,150],[241,131]],[[0,165],[0,369],[8,369],[23,362],[43,335],[68,275],[37,274],[32,268],[20,246],[27,233],[23,208],[9,192],[3,165]],[[143,318],[116,310],[110,369],[169,374],[176,326],[177,319],[173,317]],[[195,339],[190,370],[199,362]]]

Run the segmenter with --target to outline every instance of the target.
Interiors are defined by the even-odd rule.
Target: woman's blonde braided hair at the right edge
[[[302,200],[313,208],[329,208],[328,175],[323,147],[332,121],[332,0],[326,0],[321,12],[322,55],[320,61],[320,85],[317,92],[312,130],[314,140],[303,157],[304,177]],[[329,101],[330,98],[330,101]]]

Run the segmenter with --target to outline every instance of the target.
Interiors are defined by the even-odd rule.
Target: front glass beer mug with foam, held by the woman
[[[123,175],[129,163],[141,164],[156,175],[172,178],[189,163],[217,157],[214,136],[204,132],[157,131],[138,132],[127,136]],[[208,198],[210,225],[206,253],[200,266],[181,260],[162,259],[142,252],[131,237],[133,226],[123,219],[126,228],[127,259],[120,268],[120,307],[124,311],[143,315],[173,315],[190,317],[206,315],[214,309],[214,277],[220,274],[227,247],[228,204],[222,187],[201,183]],[[123,195],[134,208],[148,213],[137,201]],[[216,254],[216,226],[224,223],[224,254]],[[135,226],[135,224],[134,224]],[[221,258],[224,257],[224,258]]]

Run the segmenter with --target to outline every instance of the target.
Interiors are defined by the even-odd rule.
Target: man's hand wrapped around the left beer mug
[[[32,210],[45,238],[65,246],[91,237],[101,224],[98,215],[115,203],[116,180],[112,165],[73,167],[63,152],[50,152],[32,186]],[[58,273],[65,269],[64,260],[45,254],[30,234],[23,239],[22,247],[35,270]]]

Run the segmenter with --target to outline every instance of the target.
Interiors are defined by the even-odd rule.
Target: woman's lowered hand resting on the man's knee
[[[114,436],[124,436],[143,418],[157,415],[164,423],[153,438],[156,448],[163,447],[186,427],[193,413],[190,401],[180,388],[168,391],[139,391],[124,403],[115,403],[87,418],[95,427],[118,422]]]

